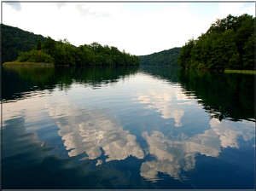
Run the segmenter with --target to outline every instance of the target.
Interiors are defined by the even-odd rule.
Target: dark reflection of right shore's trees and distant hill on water
[[[171,84],[198,99],[212,118],[254,121],[254,75],[181,70],[178,67],[142,67],[142,72]]]

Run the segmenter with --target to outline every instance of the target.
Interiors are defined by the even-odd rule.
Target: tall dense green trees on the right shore
[[[178,64],[190,69],[254,69],[255,17],[229,14],[196,40],[189,39]]]

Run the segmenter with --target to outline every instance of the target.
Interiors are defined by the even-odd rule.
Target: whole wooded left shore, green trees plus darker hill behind
[[[139,65],[138,56],[119,51],[116,47],[91,43],[73,46],[67,39],[57,42],[48,37],[2,26],[2,62],[52,63],[55,65]],[[13,63],[6,63],[13,64]]]

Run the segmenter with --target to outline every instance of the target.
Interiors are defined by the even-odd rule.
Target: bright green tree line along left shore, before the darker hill
[[[17,61],[20,62],[48,62],[55,65],[139,65],[136,55],[119,51],[116,47],[102,46],[100,43],[91,43],[73,46],[67,39],[55,42],[46,38],[42,44],[38,39],[36,49],[20,53]]]

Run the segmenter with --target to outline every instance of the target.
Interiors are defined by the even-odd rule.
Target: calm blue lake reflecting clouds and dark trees
[[[3,67],[3,189],[254,189],[254,75]]]

